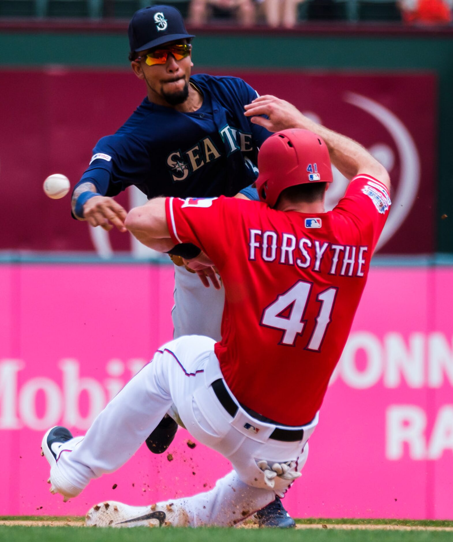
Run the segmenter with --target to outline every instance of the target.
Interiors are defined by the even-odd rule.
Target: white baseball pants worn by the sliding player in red
[[[191,335],[161,347],[96,417],[85,438],[75,437],[64,444],[66,451],[57,462],[59,473],[84,488],[90,479],[114,472],[132,457],[174,403],[187,430],[227,457],[234,468],[211,491],[168,501],[175,511],[174,525],[181,524],[180,518],[184,525],[194,527],[235,525],[273,501],[275,494],[283,495],[292,482],[277,476],[271,489],[257,462],[295,461],[299,472],[307,460],[307,440],[318,416],[303,427],[303,438],[297,442],[269,438],[277,426],[255,420],[241,407],[231,417],[211,387],[222,378],[214,344],[208,337]]]

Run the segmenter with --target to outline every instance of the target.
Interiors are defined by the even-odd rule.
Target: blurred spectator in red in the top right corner
[[[400,0],[403,21],[409,24],[450,24],[453,0]]]

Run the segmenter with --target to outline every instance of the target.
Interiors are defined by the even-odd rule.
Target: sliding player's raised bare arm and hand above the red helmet
[[[268,118],[260,115],[267,115]],[[366,173],[380,180],[390,188],[389,174],[371,154],[359,143],[316,124],[303,115],[296,107],[275,96],[260,96],[245,106],[245,116],[251,122],[264,126],[270,132],[279,132],[287,128],[310,130],[325,141],[332,164],[347,178],[352,179],[360,173]]]

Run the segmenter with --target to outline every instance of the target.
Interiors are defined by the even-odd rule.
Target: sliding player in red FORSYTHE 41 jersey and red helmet
[[[295,125],[261,147],[261,202],[156,198],[126,219],[147,246],[171,238],[203,250],[191,265],[213,264],[222,277],[222,340],[165,344],[85,437],[57,427],[42,442],[51,491],[68,499],[130,459],[174,403],[187,430],[233,470],[189,498],[96,505],[87,525],[231,526],[301,475],[391,202],[387,172],[363,147],[293,109],[263,96],[247,112],[271,130],[289,114]],[[351,183],[325,212],[331,160]]]

